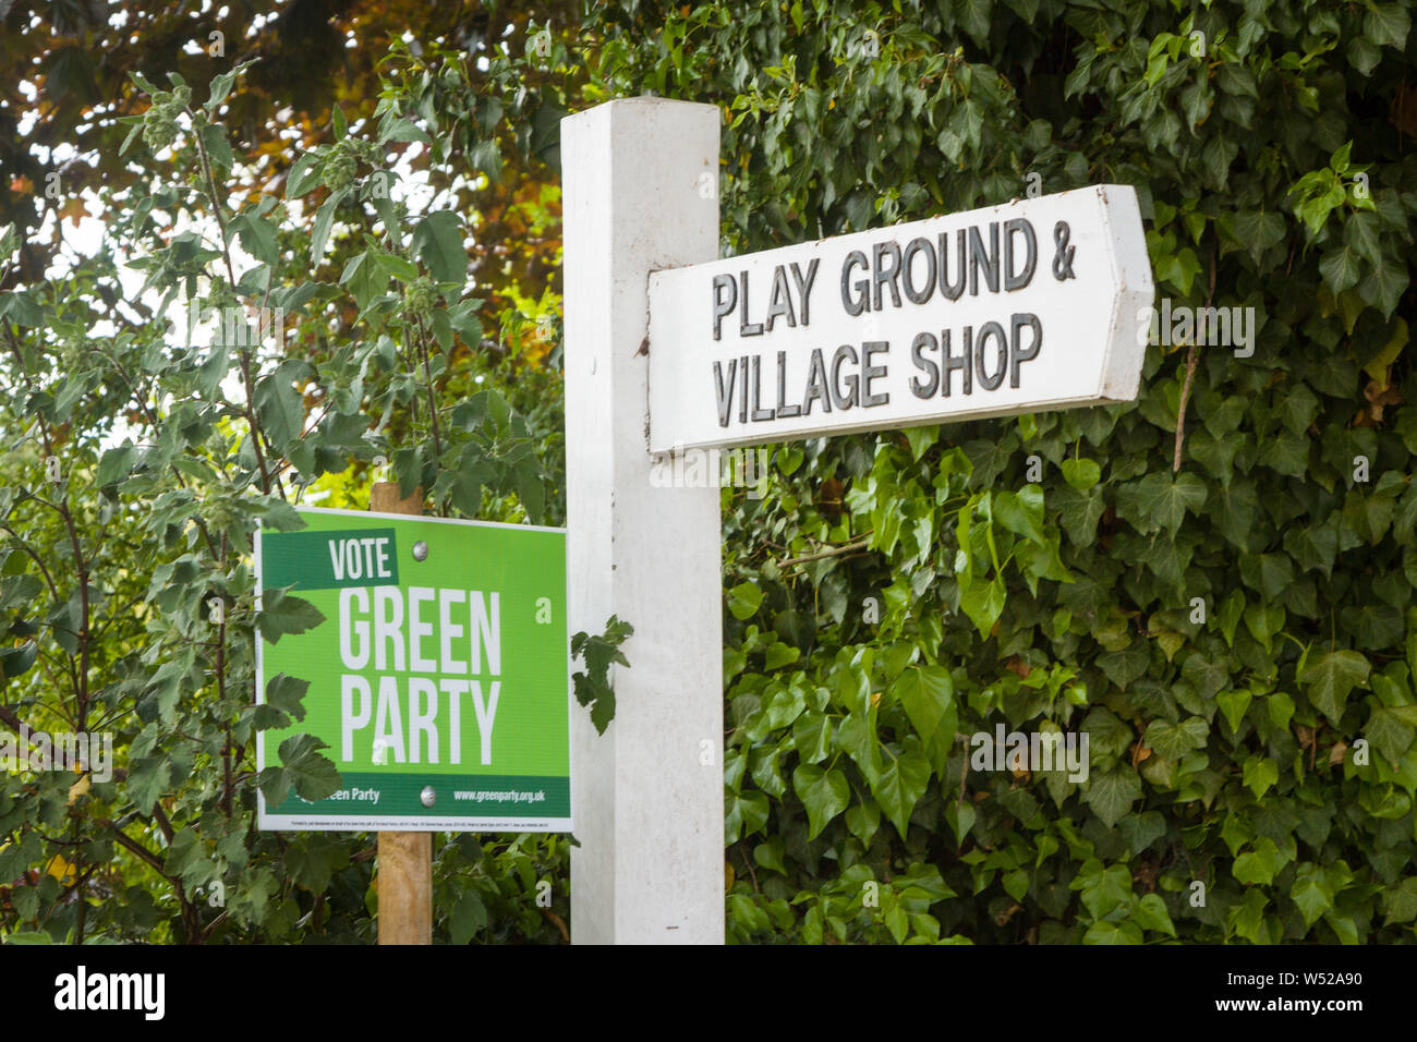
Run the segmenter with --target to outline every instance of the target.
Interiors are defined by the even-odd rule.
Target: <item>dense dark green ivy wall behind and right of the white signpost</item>
[[[1135,405],[724,492],[730,937],[1411,941],[1410,4],[597,17],[604,96],[728,112],[734,251],[1118,181],[1158,296],[1257,315],[1250,357],[1151,347]],[[1088,778],[972,767],[999,723],[1087,732]]]

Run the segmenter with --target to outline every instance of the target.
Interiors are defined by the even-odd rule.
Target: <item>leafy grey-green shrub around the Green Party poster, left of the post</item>
[[[152,103],[118,122],[145,187],[102,193],[94,257],[21,282],[0,234],[0,719],[113,740],[111,778],[92,756],[0,775],[7,940],[373,940],[373,836],[255,828],[258,790],[319,800],[340,778],[312,734],[255,768],[256,733],[302,720],[309,686],[271,678],[255,705],[255,629],[326,620],[289,591],[256,604],[254,533],[299,527],[296,502],[367,506],[385,462],[439,516],[564,519],[557,374],[483,339],[504,316],[469,285],[468,218],[388,191],[410,142],[439,136],[425,162],[456,166],[442,123],[466,108],[431,105],[405,50],[283,198],[248,196],[265,159],[222,116],[249,64],[204,105],[176,72],[133,77]],[[468,64],[439,57],[439,84],[470,92]],[[567,939],[567,841],[435,849],[435,939]]]

